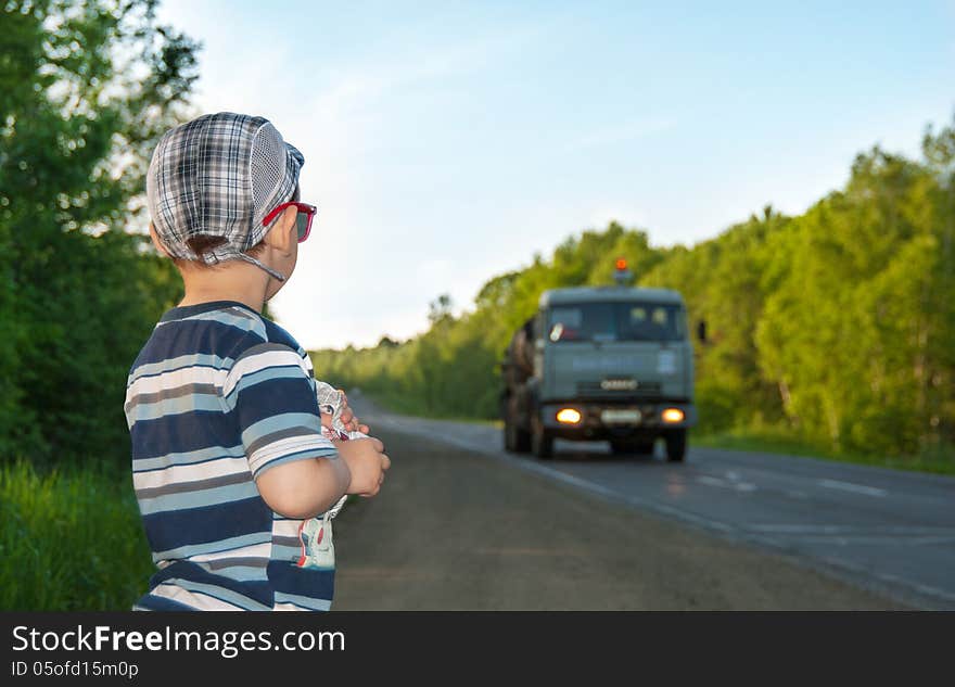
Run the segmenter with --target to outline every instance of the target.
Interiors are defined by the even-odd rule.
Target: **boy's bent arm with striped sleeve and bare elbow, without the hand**
[[[250,347],[233,362],[224,404],[239,425],[263,499],[286,518],[310,518],[348,489],[351,472],[322,435],[311,378],[298,354],[278,343]]]

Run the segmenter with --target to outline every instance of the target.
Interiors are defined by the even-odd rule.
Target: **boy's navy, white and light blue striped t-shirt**
[[[135,610],[328,610],[334,568],[301,565],[302,520],[255,486],[338,457],[308,354],[237,301],[167,310],[129,370],[132,482],[158,572]]]

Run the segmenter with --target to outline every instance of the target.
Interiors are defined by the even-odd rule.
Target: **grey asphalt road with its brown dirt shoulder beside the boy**
[[[335,609],[952,606],[817,560],[835,549],[858,564],[889,540],[889,558],[908,560],[947,537],[942,564],[955,570],[955,526],[927,533],[912,502],[899,519],[882,511],[880,529],[867,524],[871,504],[894,504],[889,494],[905,480],[863,484],[841,466],[738,451],[691,449],[686,465],[668,466],[570,443],[543,462],[506,454],[494,428],[394,416],[355,391],[348,398],[393,465],[378,497],[349,502],[335,520]],[[818,480],[838,486],[811,486]],[[946,485],[951,495],[943,480],[929,498],[942,520]]]

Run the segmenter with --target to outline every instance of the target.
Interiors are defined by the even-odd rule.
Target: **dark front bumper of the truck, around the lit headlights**
[[[557,414],[564,408],[573,408],[580,412],[581,420],[573,424],[558,421]],[[664,420],[663,411],[671,408],[680,410],[683,420],[678,422]],[[580,441],[652,440],[664,435],[668,430],[682,430],[696,425],[697,407],[692,403],[685,402],[613,404],[580,400],[547,402],[540,406],[540,419],[549,433],[561,438]]]

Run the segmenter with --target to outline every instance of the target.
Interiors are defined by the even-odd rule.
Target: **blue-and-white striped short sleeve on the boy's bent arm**
[[[256,344],[235,358],[222,398],[239,423],[253,478],[293,460],[338,456],[322,433],[315,380],[284,344]]]

